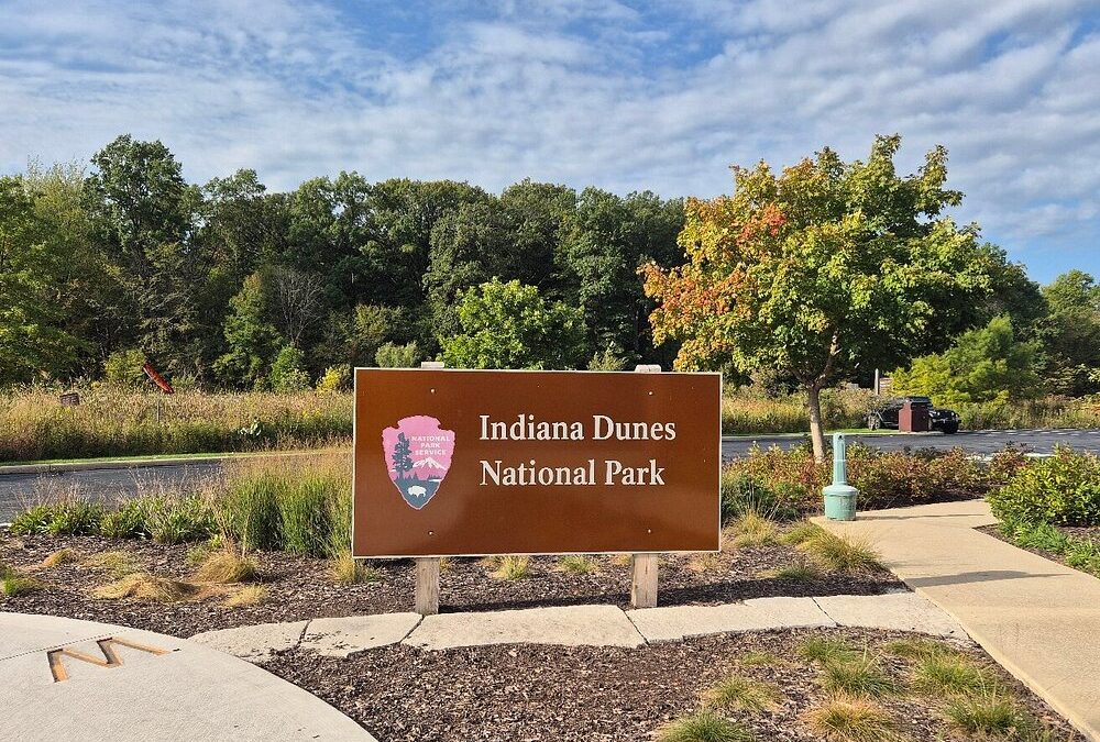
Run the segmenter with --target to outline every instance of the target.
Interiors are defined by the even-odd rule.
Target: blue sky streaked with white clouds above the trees
[[[960,221],[1100,277],[1097,0],[0,0],[0,171],[161,139],[274,189],[525,177],[728,192],[730,164],[901,133]]]

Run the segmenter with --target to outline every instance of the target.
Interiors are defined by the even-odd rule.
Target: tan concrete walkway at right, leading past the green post
[[[1100,579],[975,531],[980,500],[816,519],[873,542],[883,563],[1089,740],[1100,741]]]

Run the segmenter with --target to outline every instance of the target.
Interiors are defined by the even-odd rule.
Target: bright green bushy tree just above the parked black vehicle
[[[1007,314],[963,333],[944,353],[915,358],[893,373],[899,394],[925,395],[937,405],[1008,401],[1034,397],[1038,344],[1019,342]]]

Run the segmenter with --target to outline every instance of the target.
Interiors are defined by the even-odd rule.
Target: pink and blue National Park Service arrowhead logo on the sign
[[[397,428],[382,431],[382,450],[389,478],[410,507],[428,505],[451,468],[454,431],[442,430],[426,414],[402,418]]]

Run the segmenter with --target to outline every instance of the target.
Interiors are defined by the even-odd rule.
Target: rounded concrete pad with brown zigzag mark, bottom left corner
[[[198,643],[107,623],[0,612],[10,740],[361,740],[307,691]]]

